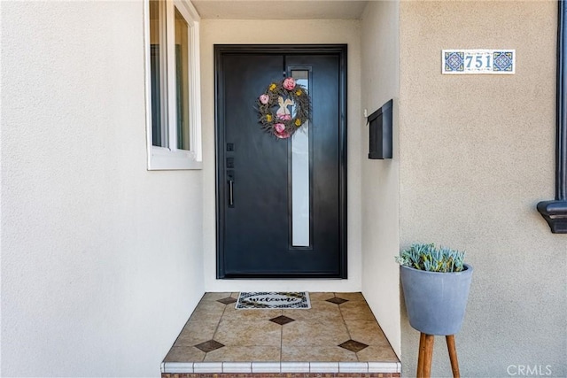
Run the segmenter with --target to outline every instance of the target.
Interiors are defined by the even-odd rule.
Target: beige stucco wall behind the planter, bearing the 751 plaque
[[[535,210],[555,195],[556,9],[400,4],[400,243],[467,251],[475,273],[456,336],[463,376],[517,375],[518,366],[567,374],[567,238]],[[454,48],[516,49],[516,74],[442,75],[441,50]],[[412,376],[419,333],[404,309],[401,325]],[[441,337],[431,374],[451,375]]]

